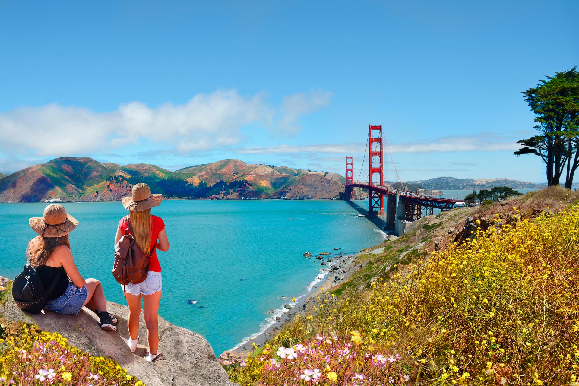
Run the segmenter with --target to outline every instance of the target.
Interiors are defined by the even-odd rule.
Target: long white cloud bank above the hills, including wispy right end
[[[301,115],[327,105],[328,95],[316,91],[284,97],[280,124],[295,123]],[[262,94],[245,97],[236,90],[197,94],[185,104],[167,102],[156,108],[135,101],[102,113],[54,103],[24,106],[0,113],[0,152],[20,157],[90,154],[144,139],[188,153],[236,145],[243,139],[241,127],[273,127],[274,115]]]

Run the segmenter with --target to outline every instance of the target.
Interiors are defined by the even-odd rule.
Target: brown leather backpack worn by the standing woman
[[[122,285],[144,282],[151,262],[151,258],[145,255],[135,241],[129,216],[127,216],[127,225],[129,225],[130,233],[124,234],[115,244],[115,263],[112,267],[112,275]],[[155,247],[156,244],[153,248]]]

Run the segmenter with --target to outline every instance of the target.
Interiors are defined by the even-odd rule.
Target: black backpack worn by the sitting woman
[[[20,275],[12,281],[12,297],[14,298],[14,302],[16,302],[20,310],[31,314],[40,314],[42,308],[48,303],[48,297],[58,284],[61,273],[62,272],[58,272],[52,285],[50,285],[50,288],[46,291],[36,268],[30,264],[26,264]]]

